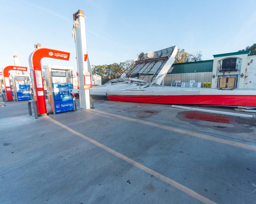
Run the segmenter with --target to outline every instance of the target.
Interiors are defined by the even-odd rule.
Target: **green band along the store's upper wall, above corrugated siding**
[[[185,74],[197,72],[212,72],[213,60],[204,60],[197,62],[185,62],[173,64],[174,68],[168,74]]]

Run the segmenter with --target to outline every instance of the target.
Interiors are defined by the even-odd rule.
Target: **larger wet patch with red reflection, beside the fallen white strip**
[[[256,126],[256,121],[253,118],[223,116],[197,111],[181,111],[177,113],[176,118],[198,127],[211,128],[226,133],[250,133],[254,132],[253,127]]]

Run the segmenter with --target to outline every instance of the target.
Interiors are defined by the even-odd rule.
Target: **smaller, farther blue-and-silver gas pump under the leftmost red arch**
[[[12,75],[13,96],[16,101],[31,100],[29,77],[26,75]]]

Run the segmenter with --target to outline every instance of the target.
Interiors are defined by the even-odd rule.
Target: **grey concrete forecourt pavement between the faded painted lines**
[[[247,145],[255,146],[256,142],[253,121],[250,132],[243,132],[247,124],[240,124],[241,133],[227,134],[222,129],[180,121],[176,116],[182,110],[169,105],[109,101],[95,101],[94,105],[96,110],[107,113]],[[0,124],[4,124],[0,126],[1,203],[202,203],[49,123],[47,117],[38,120],[29,117],[26,108],[27,103],[22,101],[7,103],[0,109]],[[140,118],[141,114],[137,113],[144,111],[155,114]],[[77,112],[50,117],[211,201],[255,203],[256,164],[253,161],[256,155],[253,150],[143,125],[115,115],[95,114],[94,110],[78,108]],[[216,121],[213,125],[216,126]]]

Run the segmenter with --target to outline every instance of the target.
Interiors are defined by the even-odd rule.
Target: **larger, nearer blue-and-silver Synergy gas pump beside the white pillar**
[[[73,90],[73,67],[45,65],[47,86],[47,112],[51,114],[74,111],[75,104],[71,94]]]

